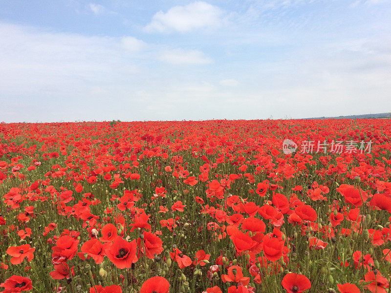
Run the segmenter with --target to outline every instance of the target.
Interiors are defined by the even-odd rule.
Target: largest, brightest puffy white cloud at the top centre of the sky
[[[159,11],[144,29],[147,32],[188,32],[206,27],[218,27],[222,23],[223,11],[203,1],[185,6],[174,6],[166,13]]]

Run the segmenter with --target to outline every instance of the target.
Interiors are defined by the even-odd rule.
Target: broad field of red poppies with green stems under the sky
[[[388,119],[1,123],[0,293],[391,293],[390,139]]]

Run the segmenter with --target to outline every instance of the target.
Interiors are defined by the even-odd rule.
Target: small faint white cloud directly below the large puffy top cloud
[[[181,49],[165,51],[159,59],[174,65],[208,64],[213,62],[211,58],[205,56],[201,51],[184,51]]]

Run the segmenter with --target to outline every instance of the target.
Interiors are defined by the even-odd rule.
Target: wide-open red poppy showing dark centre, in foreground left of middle
[[[128,242],[117,235],[107,249],[106,255],[117,268],[125,269],[130,268],[131,264],[138,260],[136,251],[136,240]]]

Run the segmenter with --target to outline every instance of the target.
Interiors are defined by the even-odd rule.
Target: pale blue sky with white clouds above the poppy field
[[[390,0],[0,2],[0,122],[391,111]]]

